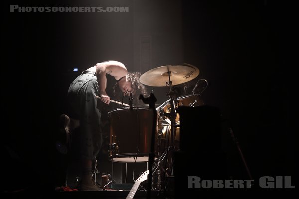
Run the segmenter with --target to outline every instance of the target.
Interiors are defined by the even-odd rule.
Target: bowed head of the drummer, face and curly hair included
[[[139,96],[139,94],[146,95],[147,90],[145,86],[139,81],[140,75],[140,72],[128,72],[126,76],[120,78],[117,81],[116,85],[118,85],[121,92],[126,93],[128,91],[126,93],[126,95],[128,96],[130,95],[129,91],[131,91],[134,96]],[[114,91],[117,91],[117,87],[114,88]]]

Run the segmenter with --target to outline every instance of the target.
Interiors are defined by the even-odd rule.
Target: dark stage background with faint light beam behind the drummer
[[[13,4],[128,6],[129,12],[9,12]],[[208,81],[202,98],[220,109],[224,126],[233,127],[253,178],[295,176],[289,2],[9,0],[1,10],[4,191],[52,189],[53,134],[65,112],[68,86],[79,74],[72,69],[105,60],[142,74],[163,65],[197,66],[199,76],[187,82],[182,95],[190,94],[198,79]],[[177,86],[183,91],[183,84]],[[147,88],[157,104],[168,100],[167,87]],[[230,174],[249,179],[226,133]]]

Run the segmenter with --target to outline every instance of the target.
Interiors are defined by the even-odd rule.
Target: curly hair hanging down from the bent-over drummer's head
[[[135,101],[139,101],[139,95],[142,94],[144,96],[148,96],[147,88],[139,81],[139,77],[141,76],[140,72],[128,72],[126,75],[126,80],[131,82],[132,89],[135,91],[133,93],[133,98]],[[120,88],[118,87],[118,82],[113,86],[114,96],[119,96]]]

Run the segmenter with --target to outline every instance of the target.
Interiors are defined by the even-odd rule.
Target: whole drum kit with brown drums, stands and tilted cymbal
[[[178,92],[173,89],[173,86],[191,81],[198,75],[199,69],[197,67],[190,64],[182,64],[160,66],[140,76],[139,80],[144,85],[169,87],[169,92],[167,92],[169,100],[155,108],[157,113],[155,137],[157,139],[154,145],[154,172],[159,169],[159,163],[164,159],[169,164],[172,164],[173,157],[170,152],[179,150],[180,118],[176,108],[179,106],[193,107],[204,104],[200,92],[195,92],[195,88],[192,94],[179,96]],[[152,111],[152,109],[142,107],[128,107],[108,113],[110,120],[109,159],[112,162],[148,161],[151,146],[150,138],[153,132],[152,121],[154,117],[152,116]],[[163,168],[162,170],[165,172],[166,169]],[[167,175],[172,175],[172,169]]]

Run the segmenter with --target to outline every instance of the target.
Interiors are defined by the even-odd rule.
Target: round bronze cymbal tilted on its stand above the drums
[[[199,69],[190,64],[160,66],[142,74],[139,81],[148,86],[169,86],[169,74],[173,86],[193,80],[199,75]]]

